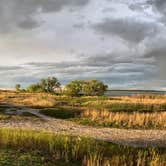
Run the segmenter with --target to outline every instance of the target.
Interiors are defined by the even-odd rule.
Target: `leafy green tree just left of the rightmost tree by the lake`
[[[75,80],[66,85],[66,94],[69,96],[79,96],[82,94],[84,81]]]

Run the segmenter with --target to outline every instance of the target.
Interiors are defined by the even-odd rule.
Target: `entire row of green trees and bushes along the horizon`
[[[38,83],[30,84],[26,89],[22,89],[20,84],[16,84],[18,92],[45,92],[68,96],[102,96],[108,90],[108,86],[98,80],[74,80],[65,87],[55,77],[41,79]]]

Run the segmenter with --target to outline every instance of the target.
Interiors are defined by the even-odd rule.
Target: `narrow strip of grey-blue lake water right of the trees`
[[[108,91],[106,96],[133,96],[133,95],[166,95],[165,91],[123,91],[123,90],[112,90]]]

